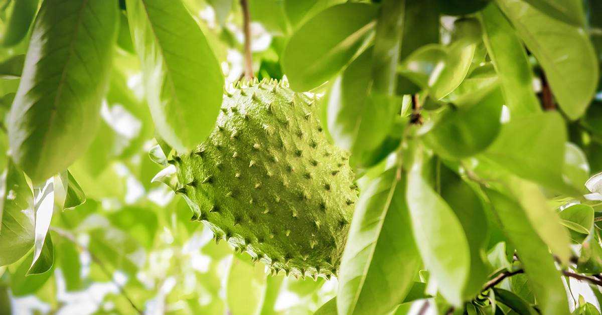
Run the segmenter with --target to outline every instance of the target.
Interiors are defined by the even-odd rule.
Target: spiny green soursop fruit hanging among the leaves
[[[286,82],[238,83],[226,90],[211,136],[169,162],[176,192],[216,242],[225,238],[273,274],[337,274],[358,192],[315,99]]]

